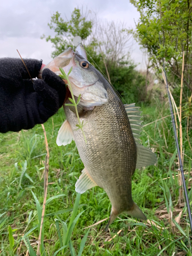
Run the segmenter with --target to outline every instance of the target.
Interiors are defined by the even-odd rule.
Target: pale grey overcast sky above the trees
[[[135,28],[139,18],[136,8],[127,0],[9,0],[0,1],[0,57],[18,57],[16,49],[23,58],[43,59],[47,64],[53,51],[51,42],[40,39],[42,34],[51,34],[47,26],[51,16],[58,11],[62,17],[70,18],[76,7],[88,8],[97,12],[98,20],[124,22],[127,28]],[[134,43],[131,57],[145,68],[145,57]]]

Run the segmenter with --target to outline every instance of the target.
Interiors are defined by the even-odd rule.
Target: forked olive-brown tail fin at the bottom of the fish
[[[136,219],[141,219],[141,220],[146,220],[146,216],[143,214],[143,212],[139,209],[139,207],[137,206],[136,203],[133,203],[133,207],[131,210],[126,210],[127,214],[131,215],[132,217],[136,218]],[[110,219],[108,222],[108,225],[106,225],[105,227],[105,232],[108,232],[109,226],[110,224],[112,224],[112,222],[117,218],[117,216],[120,214],[121,212],[117,212],[113,206],[112,206],[112,210],[111,210],[111,214],[110,214]]]

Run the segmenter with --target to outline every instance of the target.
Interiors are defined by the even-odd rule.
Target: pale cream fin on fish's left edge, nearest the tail
[[[78,181],[75,184],[75,191],[77,193],[84,193],[88,189],[97,186],[96,182],[93,180],[93,178],[90,176],[88,170],[84,168],[82,170],[82,174],[80,175]]]

